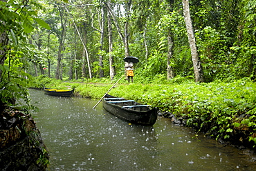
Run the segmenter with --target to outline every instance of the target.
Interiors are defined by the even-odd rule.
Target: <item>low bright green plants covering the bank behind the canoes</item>
[[[49,78],[37,79],[37,86],[75,88],[75,94],[100,99],[113,85],[101,83],[64,82]],[[98,80],[97,80],[98,81]],[[134,99],[161,110],[164,117],[182,121],[196,131],[217,141],[255,148],[256,145],[256,83],[241,79],[229,83],[130,83],[120,81],[109,94]]]

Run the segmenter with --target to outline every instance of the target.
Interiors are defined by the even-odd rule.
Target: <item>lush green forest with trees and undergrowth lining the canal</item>
[[[99,100],[118,81],[109,94],[255,148],[255,21],[255,0],[1,0],[1,123],[35,110],[29,88]]]

